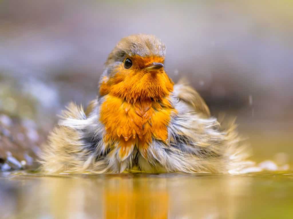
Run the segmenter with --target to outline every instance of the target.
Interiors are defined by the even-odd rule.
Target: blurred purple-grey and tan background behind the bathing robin
[[[33,122],[44,138],[28,137],[42,142],[64,105],[95,98],[122,37],[154,34],[167,46],[170,77],[188,78],[214,116],[236,116],[255,160],[287,162],[292,10],[290,0],[0,0],[0,120]]]

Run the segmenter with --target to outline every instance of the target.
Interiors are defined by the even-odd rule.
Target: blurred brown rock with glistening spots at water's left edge
[[[33,121],[0,114],[0,170],[36,168],[44,136]]]

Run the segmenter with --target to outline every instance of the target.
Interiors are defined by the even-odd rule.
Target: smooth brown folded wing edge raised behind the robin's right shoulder
[[[174,85],[173,95],[190,105],[195,112],[200,112],[206,117],[210,117],[209,107],[205,101],[185,80],[180,80]]]

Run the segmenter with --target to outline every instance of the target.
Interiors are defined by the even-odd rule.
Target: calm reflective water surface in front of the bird
[[[292,179],[293,172],[2,173],[0,211],[2,218],[292,218]]]

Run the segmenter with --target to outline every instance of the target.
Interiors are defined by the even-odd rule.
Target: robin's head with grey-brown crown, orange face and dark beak
[[[173,91],[173,81],[164,70],[166,47],[153,35],[123,38],[105,63],[100,95],[111,94],[127,102],[160,100]]]

